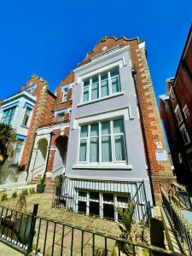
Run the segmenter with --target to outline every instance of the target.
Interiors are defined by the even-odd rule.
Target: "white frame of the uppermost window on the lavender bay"
[[[111,77],[111,71],[113,71],[114,69],[118,69],[119,71],[119,66],[116,66],[116,67],[111,67],[110,69],[106,69],[106,70],[103,70],[102,72],[100,73],[95,73],[93,75],[91,75],[91,77],[88,77],[86,79],[83,80],[83,86],[82,86],[82,103],[87,103],[87,102],[94,102],[98,99],[102,99],[104,97],[108,97],[108,96],[113,96],[119,92],[121,92],[121,85],[120,85],[120,78],[119,78],[119,74]],[[108,79],[104,79],[104,80],[101,80],[101,75],[102,73],[108,73]],[[98,86],[99,86],[99,93],[98,93],[98,97],[96,99],[92,99],[92,79],[95,77],[95,76],[98,76]],[[118,81],[119,81],[119,91],[117,92],[113,92],[112,90],[112,79],[115,79],[117,78]],[[85,86],[84,87],[84,81],[87,81],[87,80],[90,80],[90,84]],[[102,96],[101,94],[101,90],[102,90],[102,81],[106,81],[108,80],[108,96]],[[89,88],[89,96],[88,96],[88,101],[84,101],[84,88]]]

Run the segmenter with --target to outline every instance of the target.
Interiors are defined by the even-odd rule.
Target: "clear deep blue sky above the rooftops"
[[[146,41],[156,96],[174,76],[192,18],[192,1],[7,0],[0,3],[0,98],[33,73],[54,91],[103,36]]]

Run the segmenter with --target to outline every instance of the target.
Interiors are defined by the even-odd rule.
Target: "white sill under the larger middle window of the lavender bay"
[[[74,165],[73,169],[93,169],[93,170],[131,170],[131,165],[117,165],[117,164],[108,164],[108,165],[91,165],[91,164],[78,164]]]

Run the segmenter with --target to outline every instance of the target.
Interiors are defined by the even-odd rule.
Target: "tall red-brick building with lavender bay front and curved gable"
[[[102,38],[55,95],[51,121],[37,130],[30,179],[65,174],[56,179],[56,207],[117,219],[117,208],[137,199],[136,218],[147,216],[173,176],[145,43]]]

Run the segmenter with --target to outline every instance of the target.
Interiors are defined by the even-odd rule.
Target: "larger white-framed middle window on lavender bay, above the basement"
[[[79,161],[90,163],[125,161],[123,119],[82,125]]]

